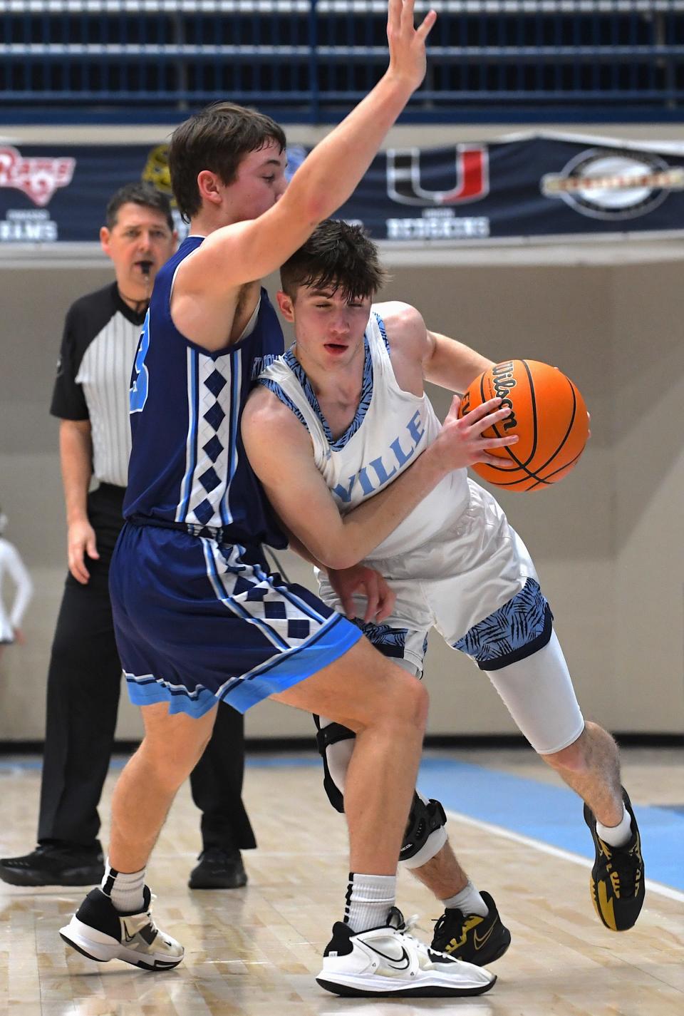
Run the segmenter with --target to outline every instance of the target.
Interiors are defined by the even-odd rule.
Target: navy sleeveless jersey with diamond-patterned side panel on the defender
[[[253,332],[210,353],[178,330],[170,294],[189,237],[159,271],[131,379],[133,449],[124,516],[221,529],[221,541],[285,547],[240,433],[243,408],[264,367],[283,352],[266,290]]]

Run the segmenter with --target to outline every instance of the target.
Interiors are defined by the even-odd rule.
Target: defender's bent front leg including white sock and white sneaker
[[[356,735],[344,784],[351,876],[318,982],[338,995],[461,996],[496,979],[406,934],[393,905],[397,859],[418,769],[427,694],[365,642],[276,696]]]

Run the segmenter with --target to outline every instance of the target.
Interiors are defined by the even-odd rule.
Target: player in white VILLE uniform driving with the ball
[[[631,928],[643,901],[643,863],[617,747],[583,718],[534,565],[501,508],[462,468],[410,514],[397,513],[381,543],[368,524],[372,505],[382,511],[383,498],[411,482],[440,438],[424,380],[465,391],[490,362],[428,331],[413,307],[371,308],[383,272],[358,228],[322,224],[282,266],[281,280],[278,302],[295,343],[262,373],[243,433],[279,517],[329,569],[322,598],[368,621],[362,600],[349,595],[355,577],[346,591],[339,575],[333,585],[332,569],[361,561],[390,587],[375,618],[383,623],[359,622],[381,651],[421,675],[434,627],[487,674],[533,748],[585,801],[599,916],[614,931]],[[457,410],[458,399],[447,426]],[[318,719],[326,789],[342,810],[353,732]],[[510,936],[491,897],[459,867],[444,823],[439,803],[416,795],[401,856],[444,902],[432,948],[491,962]]]

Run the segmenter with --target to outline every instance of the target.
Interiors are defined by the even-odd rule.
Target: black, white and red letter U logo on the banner
[[[479,201],[489,193],[489,158],[482,145],[454,147],[455,184],[444,180],[444,189],[423,186],[420,148],[389,148],[387,192],[399,204],[447,205]]]

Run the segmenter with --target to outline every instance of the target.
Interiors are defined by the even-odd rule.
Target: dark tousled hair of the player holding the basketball
[[[346,300],[373,297],[386,279],[378,248],[360,226],[327,218],[280,269],[284,293],[294,300],[301,285],[342,291]]]

